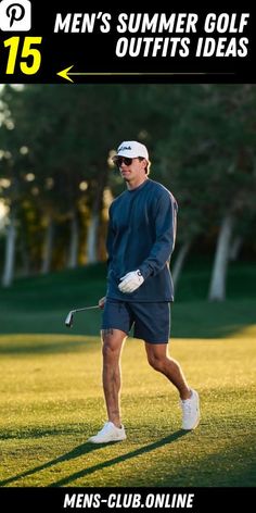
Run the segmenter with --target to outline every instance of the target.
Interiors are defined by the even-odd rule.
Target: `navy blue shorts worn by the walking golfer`
[[[149,343],[167,343],[170,333],[168,302],[133,303],[107,299],[103,310],[102,329],[120,329]]]

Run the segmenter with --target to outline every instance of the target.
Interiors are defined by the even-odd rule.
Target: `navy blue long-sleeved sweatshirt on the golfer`
[[[107,298],[174,301],[169,261],[175,248],[177,211],[171,192],[149,178],[113,201],[106,239]],[[141,271],[144,283],[132,293],[120,292],[119,279],[136,270]]]

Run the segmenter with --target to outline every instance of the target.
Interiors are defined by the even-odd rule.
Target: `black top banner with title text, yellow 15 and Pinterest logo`
[[[0,1],[2,84],[255,83],[253,8]]]

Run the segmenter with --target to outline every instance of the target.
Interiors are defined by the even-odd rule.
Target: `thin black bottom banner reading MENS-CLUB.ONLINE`
[[[11,511],[188,511],[206,513],[253,504],[253,488],[4,488]]]

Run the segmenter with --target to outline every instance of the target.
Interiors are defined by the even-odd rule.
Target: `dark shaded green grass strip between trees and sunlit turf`
[[[65,335],[67,312],[97,304],[105,295],[105,264],[97,264],[16,279],[0,293],[1,333]],[[242,262],[230,266],[228,299],[223,303],[206,300],[209,277],[207,261],[192,260],[185,266],[172,305],[172,337],[225,337],[255,323],[255,264]],[[100,311],[79,313],[72,333],[97,336],[100,322]]]

